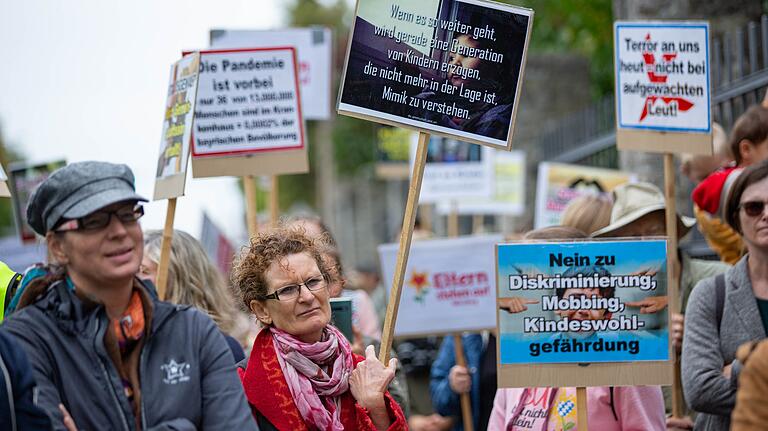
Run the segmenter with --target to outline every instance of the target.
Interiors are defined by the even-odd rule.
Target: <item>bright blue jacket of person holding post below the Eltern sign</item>
[[[464,357],[467,361],[467,369],[472,372],[472,388],[469,391],[472,399],[472,422],[475,429],[480,429],[480,360],[483,356],[483,337],[480,334],[462,335],[461,341],[464,344]],[[432,363],[430,372],[429,392],[432,395],[432,407],[435,412],[442,416],[455,416],[457,419],[453,422],[454,430],[463,430],[464,424],[461,419],[461,403],[459,395],[453,392],[448,383],[448,374],[451,368],[456,365],[456,353],[453,347],[453,337],[445,337],[443,344],[440,345],[440,352],[437,354],[435,362]]]

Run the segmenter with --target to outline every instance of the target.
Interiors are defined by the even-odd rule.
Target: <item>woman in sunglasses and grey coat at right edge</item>
[[[736,350],[768,332],[768,161],[746,168],[731,189],[726,222],[747,254],[724,276],[699,282],[685,314],[682,382],[700,412],[697,430],[728,430],[742,363]]]

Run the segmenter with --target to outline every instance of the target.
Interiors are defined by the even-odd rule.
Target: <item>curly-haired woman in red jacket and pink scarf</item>
[[[365,358],[329,324],[328,268],[320,244],[301,228],[251,238],[232,270],[243,304],[263,325],[238,369],[262,430],[405,430],[387,392],[396,361]]]

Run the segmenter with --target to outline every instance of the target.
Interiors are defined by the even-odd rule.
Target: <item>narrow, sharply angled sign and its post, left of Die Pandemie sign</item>
[[[160,245],[160,260],[157,263],[156,287],[157,295],[161,300],[165,299],[168,284],[176,199],[184,195],[187,180],[189,143],[192,139],[199,69],[200,54],[197,52],[187,53],[171,66],[153,195],[154,200],[168,200]]]

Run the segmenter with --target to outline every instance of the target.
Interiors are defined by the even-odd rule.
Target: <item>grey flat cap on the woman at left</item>
[[[72,163],[35,189],[27,206],[27,223],[45,235],[62,219],[83,217],[122,201],[147,201],[136,194],[131,168],[107,162]]]

